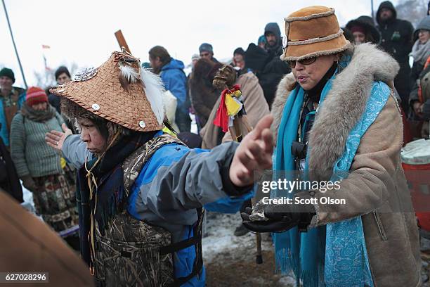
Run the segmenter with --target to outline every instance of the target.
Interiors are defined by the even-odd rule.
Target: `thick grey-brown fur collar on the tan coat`
[[[309,170],[315,180],[330,177],[334,162],[344,152],[349,132],[365,110],[373,82],[382,81],[392,87],[399,69],[396,60],[372,44],[355,46],[347,53],[352,53],[351,63],[334,79],[309,136]],[[294,82],[290,73],[281,80],[276,91],[272,106],[275,137]]]

